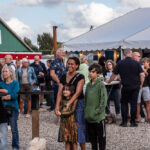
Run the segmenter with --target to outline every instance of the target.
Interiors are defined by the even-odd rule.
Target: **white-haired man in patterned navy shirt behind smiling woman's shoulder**
[[[60,48],[56,51],[56,59],[51,62],[50,75],[53,79],[52,88],[54,90],[54,102],[52,102],[51,110],[55,109],[58,85],[60,83],[61,77],[66,74],[66,68],[64,65],[65,51]]]

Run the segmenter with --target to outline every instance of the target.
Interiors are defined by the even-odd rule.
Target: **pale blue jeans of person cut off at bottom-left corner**
[[[8,150],[8,127],[7,123],[0,123],[0,150]]]

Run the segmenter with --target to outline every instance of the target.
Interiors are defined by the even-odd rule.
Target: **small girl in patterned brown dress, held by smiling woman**
[[[66,110],[66,104],[75,93],[73,85],[66,84],[63,87],[63,98],[60,108],[60,142],[65,142],[66,150],[77,150],[77,122],[75,120],[75,109],[77,100]]]

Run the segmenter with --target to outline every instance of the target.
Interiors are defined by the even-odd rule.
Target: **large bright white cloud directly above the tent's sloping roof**
[[[124,10],[124,11],[123,11]],[[101,3],[90,3],[79,6],[67,7],[67,22],[59,29],[58,36],[61,41],[66,41],[89,31],[90,26],[98,27],[122,14],[128,9],[112,9]]]

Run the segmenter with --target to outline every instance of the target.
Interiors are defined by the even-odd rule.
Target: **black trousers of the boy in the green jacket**
[[[88,136],[92,144],[92,150],[105,150],[106,148],[106,128],[105,120],[99,123],[87,123]]]

